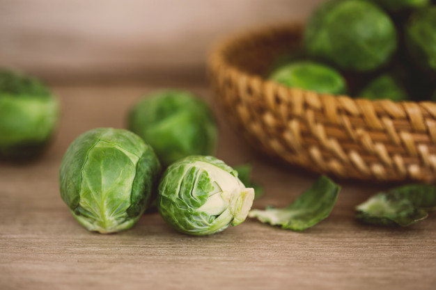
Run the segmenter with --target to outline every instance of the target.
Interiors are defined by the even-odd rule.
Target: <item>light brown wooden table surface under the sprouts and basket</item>
[[[0,164],[0,289],[436,289],[436,214],[408,228],[361,225],[353,208],[386,186],[340,182],[332,214],[298,233],[247,220],[212,236],[187,236],[146,214],[132,229],[95,234],[59,195],[58,170],[72,140],[123,127],[148,87],[57,87],[62,122],[42,158]],[[191,88],[207,98],[207,88]],[[219,115],[217,156],[254,164],[265,196],[284,206],[317,178],[258,156]],[[156,288],[152,288],[156,287]]]

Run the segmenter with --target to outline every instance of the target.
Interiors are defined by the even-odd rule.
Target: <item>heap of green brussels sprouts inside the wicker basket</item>
[[[436,101],[430,0],[326,1],[306,24],[302,49],[269,79],[332,95]]]

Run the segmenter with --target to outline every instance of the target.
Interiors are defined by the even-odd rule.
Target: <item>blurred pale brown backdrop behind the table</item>
[[[52,85],[204,83],[216,40],[322,0],[1,0],[0,65]]]

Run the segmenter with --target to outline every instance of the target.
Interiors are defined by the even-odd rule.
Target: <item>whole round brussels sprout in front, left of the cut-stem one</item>
[[[150,145],[123,129],[98,128],[68,147],[59,171],[61,197],[86,229],[129,229],[146,210],[160,164]]]

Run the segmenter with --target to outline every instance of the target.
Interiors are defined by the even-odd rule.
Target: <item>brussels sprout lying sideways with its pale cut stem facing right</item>
[[[205,235],[242,223],[253,200],[253,188],[245,188],[226,163],[212,156],[188,156],[164,172],[157,209],[179,232]]]

